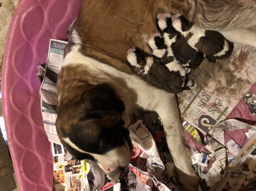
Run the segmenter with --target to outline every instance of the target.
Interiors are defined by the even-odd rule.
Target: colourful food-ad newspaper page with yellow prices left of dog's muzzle
[[[91,160],[54,157],[55,191],[95,191],[104,186],[105,173]]]

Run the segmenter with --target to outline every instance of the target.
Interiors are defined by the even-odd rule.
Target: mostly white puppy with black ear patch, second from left
[[[160,33],[152,33],[148,40],[148,45],[152,49],[152,54],[160,58],[162,63],[166,65],[170,72],[178,73],[181,76],[186,75],[186,70],[175,59],[171,47],[166,46]]]

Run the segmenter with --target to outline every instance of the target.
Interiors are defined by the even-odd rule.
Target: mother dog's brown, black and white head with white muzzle
[[[76,95],[77,93],[77,95]],[[132,143],[121,115],[125,106],[106,84],[62,93],[56,129],[76,159],[92,159],[114,180],[128,167]],[[68,100],[68,101],[67,101]]]

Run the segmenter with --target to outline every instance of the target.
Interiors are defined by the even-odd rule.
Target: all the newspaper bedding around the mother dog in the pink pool
[[[135,154],[118,182],[108,179],[93,161],[73,159],[64,150],[55,121],[56,81],[65,44],[51,39],[48,61],[38,66],[44,129],[52,144],[53,190],[181,191],[161,120],[154,112],[134,110],[128,128]],[[256,190],[255,55],[256,48],[236,44],[229,59],[204,60],[191,73],[197,89],[178,95],[192,164],[201,177],[198,190]]]

